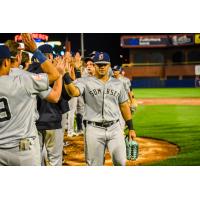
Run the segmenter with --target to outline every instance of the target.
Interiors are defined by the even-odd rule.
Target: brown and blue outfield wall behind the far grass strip
[[[135,88],[195,87],[195,65],[124,67]]]

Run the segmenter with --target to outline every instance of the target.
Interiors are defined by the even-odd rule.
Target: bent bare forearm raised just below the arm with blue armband
[[[62,76],[60,76],[54,82],[53,88],[52,88],[49,96],[46,98],[46,100],[51,103],[57,103],[60,99],[61,93],[62,93]]]

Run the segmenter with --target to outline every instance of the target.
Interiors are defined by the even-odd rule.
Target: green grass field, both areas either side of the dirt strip
[[[134,91],[137,98],[200,97],[200,90],[194,88]],[[180,147],[177,156],[151,165],[200,166],[200,106],[139,105],[134,123],[139,137],[162,139]]]

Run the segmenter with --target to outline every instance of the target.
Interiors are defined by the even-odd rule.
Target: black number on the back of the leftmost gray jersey
[[[0,122],[11,119],[11,113],[8,105],[8,100],[5,97],[0,98]]]

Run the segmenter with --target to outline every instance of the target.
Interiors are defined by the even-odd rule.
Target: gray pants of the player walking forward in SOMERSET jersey
[[[119,122],[108,128],[86,125],[85,157],[86,163],[102,166],[105,162],[105,150],[108,148],[115,166],[126,165],[126,145]]]

